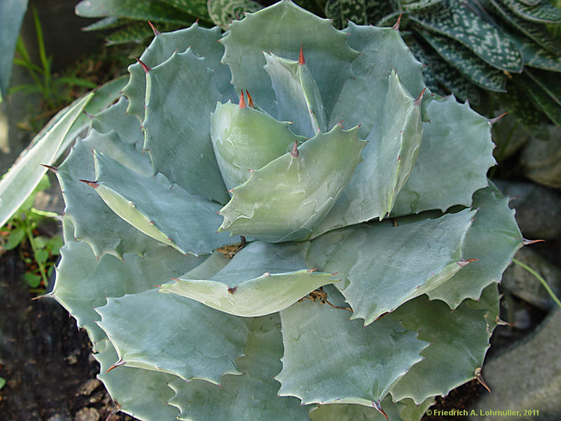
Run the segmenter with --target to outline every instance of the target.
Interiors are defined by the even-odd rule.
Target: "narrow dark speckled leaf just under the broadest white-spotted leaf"
[[[430,44],[450,65],[456,67],[475,85],[487,91],[506,92],[506,76],[499,69],[487,65],[486,62],[453,39],[435,33],[419,31],[419,34]]]

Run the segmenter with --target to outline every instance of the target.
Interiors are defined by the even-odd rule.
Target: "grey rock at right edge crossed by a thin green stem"
[[[518,250],[515,259],[538,272],[547,281],[553,293],[557,297],[561,296],[561,269],[551,265],[550,262],[529,247]],[[501,285],[513,295],[540,309],[548,311],[555,307],[555,302],[546,288],[543,288],[541,282],[526,269],[515,263],[504,272]]]

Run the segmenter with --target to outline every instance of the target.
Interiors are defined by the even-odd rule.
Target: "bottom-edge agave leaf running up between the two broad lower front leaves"
[[[242,375],[224,375],[220,385],[203,380],[175,380],[170,405],[180,408],[179,420],[309,420],[309,408],[297,399],[278,397],[283,340],[278,314],[251,319],[243,356],[236,360]]]

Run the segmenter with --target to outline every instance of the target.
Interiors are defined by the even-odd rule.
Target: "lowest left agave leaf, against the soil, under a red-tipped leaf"
[[[140,420],[175,420],[179,411],[168,400],[174,395],[169,384],[177,376],[133,367],[119,367],[107,373],[119,356],[109,340],[97,342],[96,349],[98,352],[93,355],[100,363],[97,378],[114,401],[119,402],[119,410]]]

